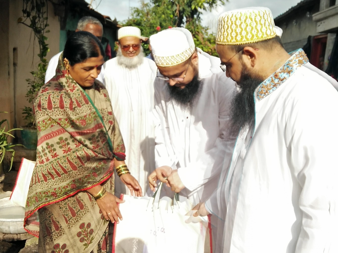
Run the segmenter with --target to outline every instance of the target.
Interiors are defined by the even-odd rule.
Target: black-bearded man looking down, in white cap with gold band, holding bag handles
[[[170,37],[175,37],[175,41],[169,40]],[[170,45],[165,41],[169,41]],[[188,67],[182,66],[184,79],[197,75],[200,80],[200,91],[194,102],[188,105],[177,102],[168,90],[169,86],[185,85],[184,80],[172,82],[175,77],[164,80],[165,77],[158,73],[159,77],[154,82],[156,168],[165,166],[169,167],[167,172],[177,173],[178,178],[168,175],[171,189],[180,191],[181,196],[197,204],[208,199],[215,190],[224,156],[230,160],[234,138],[227,130],[235,82],[221,71],[219,58],[199,48],[195,50],[192,35],[187,29],[161,31],[150,37],[150,45],[159,70],[166,76],[177,76],[176,73],[182,72],[178,69],[179,65],[186,63]],[[182,55],[179,59],[182,62],[176,62],[171,57],[177,53]],[[191,70],[195,72],[189,72]],[[153,178],[149,180],[154,183]],[[176,188],[177,180],[182,182],[183,189]]]

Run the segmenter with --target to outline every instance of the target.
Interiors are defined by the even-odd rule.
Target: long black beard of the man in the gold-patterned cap
[[[240,128],[246,124],[251,124],[255,118],[255,99],[254,92],[258,85],[264,80],[253,77],[244,68],[241,79],[237,83],[240,88],[235,92],[231,104],[232,133],[237,135]]]

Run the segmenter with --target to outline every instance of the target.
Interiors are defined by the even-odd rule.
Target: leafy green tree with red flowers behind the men
[[[160,30],[171,27],[185,27],[194,37],[196,47],[217,56],[215,34],[201,24],[203,10],[211,11],[228,0],[150,0],[141,1],[140,8],[133,8],[131,17],[123,26],[137,26],[143,36],[149,37]],[[173,38],[174,39],[174,38]],[[144,45],[149,53],[148,45]]]

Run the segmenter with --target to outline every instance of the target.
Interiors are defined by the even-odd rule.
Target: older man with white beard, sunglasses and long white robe
[[[117,57],[104,64],[105,86],[123,136],[126,164],[145,193],[149,188],[148,175],[155,168],[152,108],[157,67],[152,60],[144,57],[141,40],[145,38],[141,36],[140,29],[120,28],[118,39]],[[115,181],[115,195],[118,197],[121,193],[129,193],[119,181]]]

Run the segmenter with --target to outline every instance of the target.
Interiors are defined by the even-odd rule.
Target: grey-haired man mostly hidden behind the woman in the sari
[[[103,26],[101,22],[90,16],[82,17],[78,23],[75,32],[77,31],[86,31],[94,34],[100,41],[102,39],[103,35]],[[48,62],[46,75],[45,75],[45,83],[47,83],[50,79],[52,79],[55,76],[56,67],[59,62],[59,57],[62,54],[63,51],[57,53],[54,55]],[[99,80],[101,83],[103,83],[103,77],[104,77],[104,68],[101,67],[101,72],[96,78],[96,80]]]

